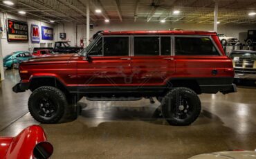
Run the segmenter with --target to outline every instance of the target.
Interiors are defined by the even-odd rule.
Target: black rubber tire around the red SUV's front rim
[[[57,102],[60,103],[58,112],[56,113],[55,117],[52,118],[51,120],[44,120],[43,118],[40,117],[40,115],[38,115],[37,113],[34,113],[35,111],[34,106],[36,105],[35,102],[37,100],[37,97],[42,97],[44,93],[48,93],[51,97],[54,98],[54,100],[57,100]],[[28,110],[30,114],[35,120],[44,124],[57,123],[64,115],[67,106],[68,106],[68,102],[66,101],[65,94],[62,91],[60,91],[60,89],[55,88],[53,86],[41,86],[35,89],[35,91],[33,91],[33,93],[30,95],[28,99]]]

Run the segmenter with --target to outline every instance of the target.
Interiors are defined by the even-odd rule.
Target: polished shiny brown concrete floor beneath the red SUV
[[[17,135],[39,124],[28,113],[30,92],[12,93],[17,71],[6,71],[0,85],[0,135]],[[199,153],[256,148],[256,86],[237,93],[200,95],[199,119],[187,127],[170,126],[159,103],[80,101],[76,120],[41,124],[55,151],[53,158],[189,158]]]

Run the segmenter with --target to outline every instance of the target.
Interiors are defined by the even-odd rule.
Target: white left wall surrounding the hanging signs
[[[54,28],[53,24],[48,24],[48,23],[45,23],[42,21],[37,21],[35,19],[28,19],[26,17],[10,15],[10,14],[6,14],[6,13],[2,13],[2,12],[0,12],[0,18],[1,18],[1,24],[4,27],[3,28],[3,37],[1,38],[1,51],[2,51],[3,57],[5,57],[6,55],[8,55],[14,51],[18,51],[18,50],[32,51],[34,47],[40,47],[40,43],[46,43],[46,44],[51,43],[52,45],[54,45],[53,40],[42,40],[42,35],[41,35],[41,26],[48,26],[48,27]],[[7,41],[6,19],[15,19],[18,21],[28,22],[28,39],[29,39],[28,42],[8,42]],[[30,41],[31,24],[35,24],[35,25],[39,26],[40,37],[41,37],[40,43],[32,43]]]

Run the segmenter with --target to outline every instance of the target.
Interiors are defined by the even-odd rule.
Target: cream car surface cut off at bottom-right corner
[[[200,155],[192,156],[189,159],[255,159],[255,151],[244,151],[244,150],[232,150],[232,151],[220,151],[212,153],[203,153]]]

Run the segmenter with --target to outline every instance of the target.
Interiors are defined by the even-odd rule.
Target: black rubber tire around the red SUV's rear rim
[[[170,115],[169,110],[170,110],[170,105],[169,102],[172,100],[175,95],[179,93],[186,93],[187,95],[190,95],[190,98],[192,99],[192,104],[194,104],[194,112],[190,116],[190,118],[187,118],[185,120],[177,120],[176,118],[173,118],[172,115]],[[185,125],[190,125],[196,118],[199,117],[201,113],[201,101],[199,99],[199,96],[190,88],[186,87],[176,87],[172,88],[165,97],[163,97],[163,100],[161,102],[161,112],[163,114],[163,117],[167,122],[171,125],[176,125],[176,126],[185,126]]]

